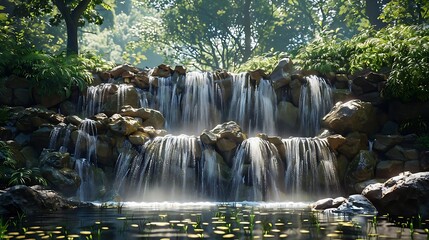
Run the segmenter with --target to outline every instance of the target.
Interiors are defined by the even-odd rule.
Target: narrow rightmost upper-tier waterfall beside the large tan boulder
[[[323,116],[332,108],[332,89],[323,78],[311,75],[305,79],[299,101],[300,130],[304,136],[314,136]]]

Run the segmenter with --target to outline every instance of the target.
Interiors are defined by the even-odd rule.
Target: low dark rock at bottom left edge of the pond
[[[0,194],[0,215],[3,216],[18,213],[33,215],[76,206],[83,204],[69,201],[57,192],[44,190],[39,186],[17,185]]]

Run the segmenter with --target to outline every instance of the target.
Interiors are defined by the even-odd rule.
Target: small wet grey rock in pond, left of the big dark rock
[[[337,213],[346,215],[377,215],[378,211],[365,196],[355,194],[349,196],[347,201],[343,202],[339,207],[326,209],[324,213]]]

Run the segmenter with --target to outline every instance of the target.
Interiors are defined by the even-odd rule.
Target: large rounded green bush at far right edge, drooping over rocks
[[[429,100],[429,30],[394,26],[356,45],[351,70],[390,72],[383,95],[402,101]]]

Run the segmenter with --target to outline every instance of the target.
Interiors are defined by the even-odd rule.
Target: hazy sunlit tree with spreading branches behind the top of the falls
[[[163,31],[154,40],[169,49],[167,57],[200,69],[235,68],[262,53],[261,43],[274,37],[271,26],[282,24],[264,0],[142,1],[158,11]]]

